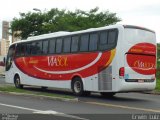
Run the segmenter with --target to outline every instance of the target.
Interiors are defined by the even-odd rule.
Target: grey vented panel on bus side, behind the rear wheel
[[[112,90],[112,66],[98,74],[98,88],[99,90]]]

